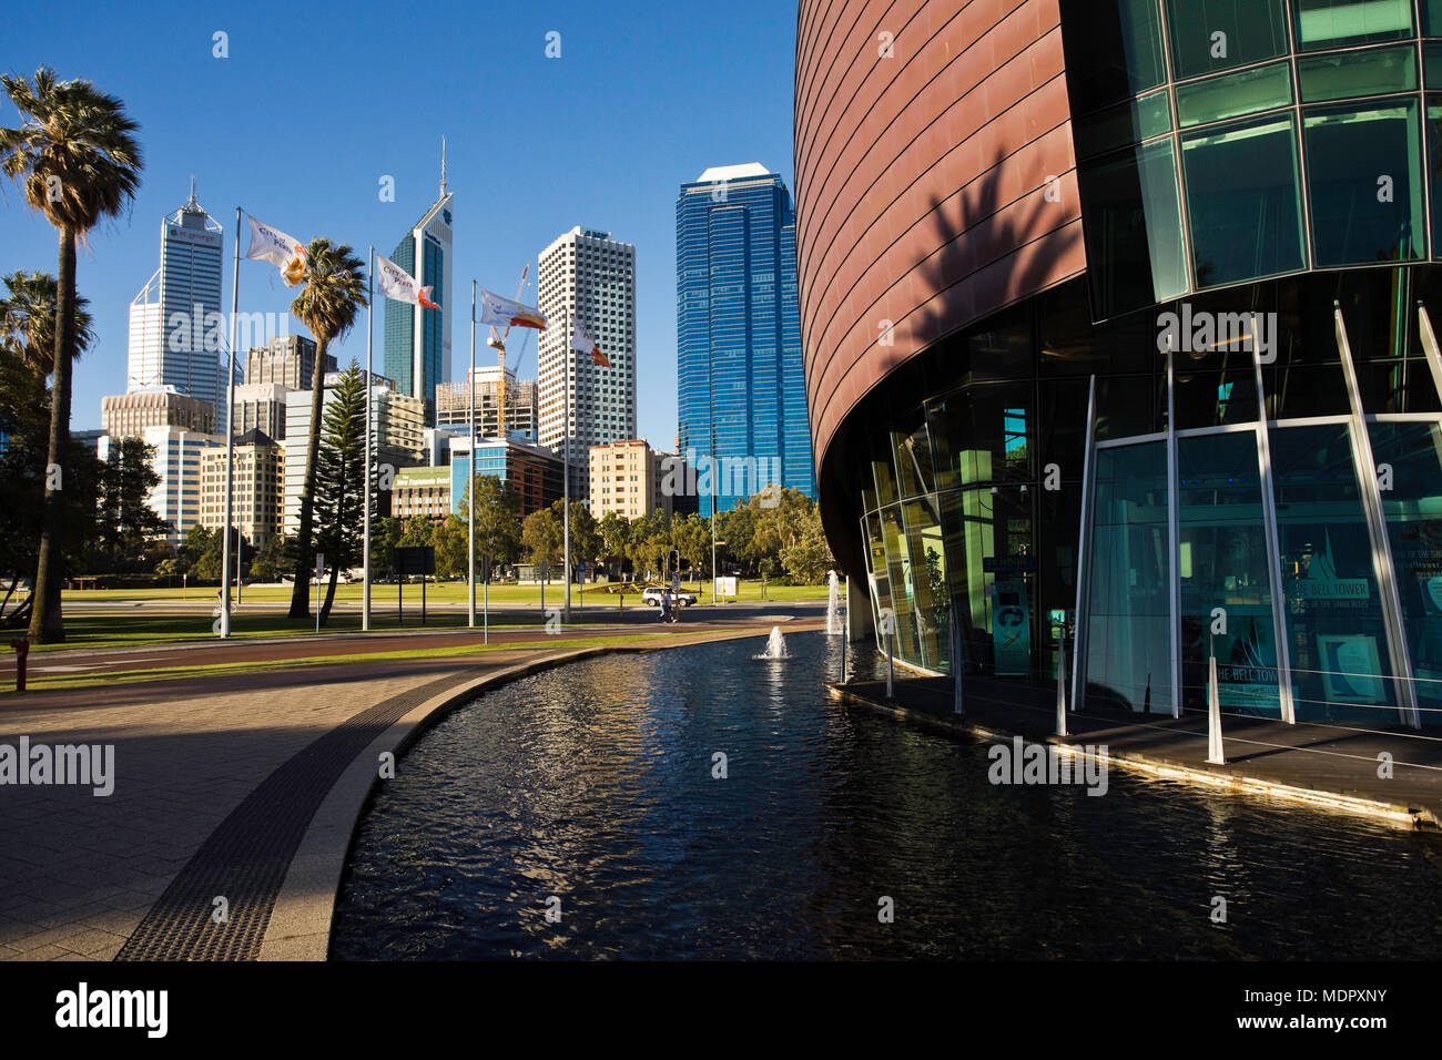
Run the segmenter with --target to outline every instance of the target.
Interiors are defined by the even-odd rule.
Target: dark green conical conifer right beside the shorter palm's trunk
[[[319,356],[319,355],[317,355]],[[316,467],[316,549],[330,567],[320,624],[330,619],[340,568],[360,561],[365,489],[366,381],[355,361],[342,372],[324,405],[320,460]]]

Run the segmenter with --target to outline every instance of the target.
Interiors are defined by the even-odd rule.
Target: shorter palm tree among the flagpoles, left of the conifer
[[[316,336],[316,372],[310,384],[310,440],[306,444],[306,486],[300,495],[300,531],[296,535],[296,587],[290,596],[290,617],[310,614],[311,524],[316,511],[316,463],[320,457],[320,410],[326,381],[326,350],[356,322],[366,301],[365,262],[345,244],[316,238],[306,248],[306,286],[290,312]],[[366,401],[371,382],[366,381]]]

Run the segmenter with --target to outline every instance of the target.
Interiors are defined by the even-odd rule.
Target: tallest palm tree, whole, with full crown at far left
[[[45,215],[61,235],[56,278],[55,345],[50,368],[49,464],[61,472],[46,476],[40,555],[35,573],[35,611],[30,640],[65,639],[61,616],[62,534],[61,454],[71,438],[71,362],[79,349],[75,296],[75,244],[136,198],[140,187],[140,146],[131,136],[138,125],[125,117],[124,104],[98,91],[89,81],[56,81],[40,66],[35,81],[0,76],[0,88],[20,111],[19,128],[0,127],[0,173],[25,190],[25,200]]]

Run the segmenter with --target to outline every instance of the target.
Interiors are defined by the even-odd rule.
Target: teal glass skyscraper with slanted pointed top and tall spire
[[[450,379],[451,307],[451,199],[446,190],[446,156],[441,153],[441,193],[401,242],[391,261],[434,287],[440,309],[421,309],[385,300],[385,374],[401,394],[425,401],[425,425],[435,425],[435,385]]]

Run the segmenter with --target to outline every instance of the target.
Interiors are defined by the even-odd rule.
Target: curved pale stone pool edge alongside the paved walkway
[[[787,626],[787,632],[795,630],[797,633],[815,632],[818,629],[823,629],[823,626],[815,624],[815,620],[805,619]],[[340,893],[346,858],[350,854],[350,841],[355,836],[356,825],[360,823],[360,813],[369,802],[375,786],[379,783],[376,763],[382,751],[392,751],[397,763],[399,763],[405,750],[447,714],[466,705],[483,691],[500,688],[532,673],[601,655],[665,652],[675,648],[722,640],[763,637],[767,633],[769,630],[746,629],[709,633],[698,639],[676,643],[578,648],[557,652],[544,659],[508,666],[485,676],[457,678],[454,686],[411,708],[372,740],[365,751],[350,761],[345,773],[342,773],[340,779],[326,795],[310,825],[306,828],[300,848],[296,851],[286,871],[286,880],[281,884],[280,894],[275,897],[275,904],[265,927],[265,936],[261,940],[258,959],[327,959],[336,897]]]

